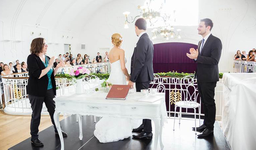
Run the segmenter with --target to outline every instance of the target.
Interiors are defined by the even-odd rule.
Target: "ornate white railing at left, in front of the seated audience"
[[[109,62],[107,62],[59,68],[57,74],[69,74],[69,71],[72,68],[78,67],[88,68],[90,70],[90,74],[99,72],[108,74],[111,71],[111,65]],[[5,113],[17,115],[31,114],[32,111],[26,91],[28,78],[28,72],[11,74],[2,77],[5,99]],[[67,90],[72,89],[71,87],[75,86],[76,84],[74,80],[68,80],[67,78],[55,78],[55,81],[57,89],[56,96],[62,95],[65,93],[65,90],[67,92]],[[43,106],[42,114],[48,114],[45,106]]]

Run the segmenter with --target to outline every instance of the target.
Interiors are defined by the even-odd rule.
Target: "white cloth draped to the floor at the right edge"
[[[222,130],[232,150],[256,149],[256,74],[223,75]]]

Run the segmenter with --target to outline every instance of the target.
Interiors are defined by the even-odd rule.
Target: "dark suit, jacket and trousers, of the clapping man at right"
[[[218,37],[210,34],[201,48],[202,40],[198,43],[197,57],[197,87],[204,109],[204,125],[208,130],[213,130],[215,122],[215,87],[219,81],[218,63],[221,57],[222,43]]]

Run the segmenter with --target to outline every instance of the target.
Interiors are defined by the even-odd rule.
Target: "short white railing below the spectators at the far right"
[[[238,73],[256,72],[256,62],[246,60],[235,60],[233,65],[234,71]]]

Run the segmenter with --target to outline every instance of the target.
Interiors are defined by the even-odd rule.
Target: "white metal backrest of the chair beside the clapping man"
[[[197,79],[194,75],[187,75],[180,79],[181,101],[196,102],[198,97]]]

